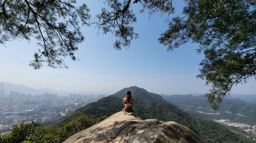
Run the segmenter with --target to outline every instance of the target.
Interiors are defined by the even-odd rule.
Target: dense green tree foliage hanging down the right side
[[[214,109],[231,87],[256,74],[255,1],[185,1],[183,17],[175,17],[159,38],[173,50],[189,40],[203,52],[198,78],[212,89],[206,94]]]

